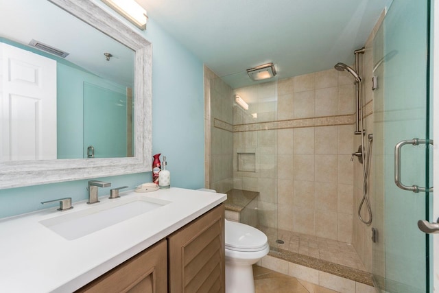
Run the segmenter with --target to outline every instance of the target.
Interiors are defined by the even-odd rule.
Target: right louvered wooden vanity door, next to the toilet
[[[224,292],[224,204],[168,237],[169,292]]]

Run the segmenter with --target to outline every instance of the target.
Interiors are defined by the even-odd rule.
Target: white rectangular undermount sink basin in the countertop
[[[169,203],[167,200],[142,196],[119,198],[112,202],[97,203],[83,211],[73,211],[66,215],[43,220],[40,221],[40,224],[67,240],[73,240]]]

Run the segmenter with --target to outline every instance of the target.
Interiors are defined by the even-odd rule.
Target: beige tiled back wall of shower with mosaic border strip
[[[234,187],[261,193],[259,224],[352,242],[354,89],[330,69],[235,90],[252,102],[235,107]],[[237,169],[241,153],[255,172]]]

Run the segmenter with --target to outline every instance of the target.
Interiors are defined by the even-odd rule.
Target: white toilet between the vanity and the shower
[[[252,226],[225,221],[226,293],[254,293],[252,265],[270,251],[267,235]]]

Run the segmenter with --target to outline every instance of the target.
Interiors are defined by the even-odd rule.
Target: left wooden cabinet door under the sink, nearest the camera
[[[167,292],[166,240],[121,263],[77,292]]]

